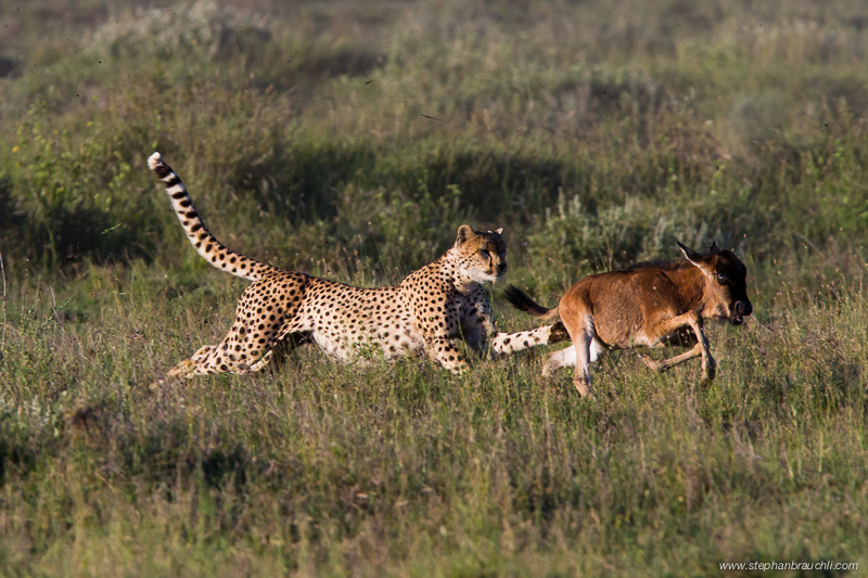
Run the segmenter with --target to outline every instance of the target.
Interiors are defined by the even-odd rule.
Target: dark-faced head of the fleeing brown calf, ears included
[[[748,299],[748,268],[731,251],[720,251],[712,243],[707,255],[702,255],[678,243],[685,258],[698,267],[705,277],[702,300],[703,317],[727,320],[741,325],[744,316],[753,312]]]

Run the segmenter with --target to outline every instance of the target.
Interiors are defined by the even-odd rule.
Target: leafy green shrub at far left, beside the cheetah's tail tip
[[[9,246],[50,267],[79,257],[126,258],[122,252],[148,224],[149,203],[129,194],[136,180],[116,134],[88,123],[73,136],[50,130],[46,120],[36,106],[16,131]]]

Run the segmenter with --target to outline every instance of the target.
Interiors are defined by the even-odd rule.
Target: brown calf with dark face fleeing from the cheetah
[[[624,271],[586,277],[570,287],[554,309],[537,305],[510,285],[507,300],[513,307],[547,321],[560,317],[573,341],[547,357],[542,374],[576,365],[573,383],[579,394],[589,396],[589,365],[603,351],[695,344],[672,359],[641,359],[663,372],[701,356],[705,380],[714,380],[717,363],[702,331],[703,320],[744,322],[743,316],[753,311],[746,293],[748,269],[716,242],[707,255],[678,246],[687,260],[640,262]]]

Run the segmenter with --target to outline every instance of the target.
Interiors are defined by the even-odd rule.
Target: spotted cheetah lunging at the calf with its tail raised
[[[512,334],[495,329],[482,284],[507,271],[502,229],[476,232],[462,224],[445,255],[399,285],[354,287],[232,252],[205,228],[181,179],[159,153],[151,155],[148,165],[165,183],[171,207],[199,255],[217,269],[253,281],[224,341],[200,348],[169,375],[254,373],[269,363],[279,365],[289,351],[309,342],[339,361],[358,359],[362,347],[370,351],[373,346],[390,361],[423,349],[460,374],[468,363],[456,339],[473,350],[490,348],[497,357],[567,338],[551,326]]]

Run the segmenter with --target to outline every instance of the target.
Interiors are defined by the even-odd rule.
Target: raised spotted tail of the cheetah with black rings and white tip
[[[217,269],[251,281],[256,281],[266,273],[277,270],[270,265],[243,257],[217,241],[202,222],[202,218],[193,206],[193,201],[187,194],[181,178],[163,162],[159,153],[154,153],[148,158],[148,166],[166,183],[166,193],[169,195],[171,208],[175,209],[178,220],[181,221],[190,244],[195,247],[196,253],[203,259]]]

